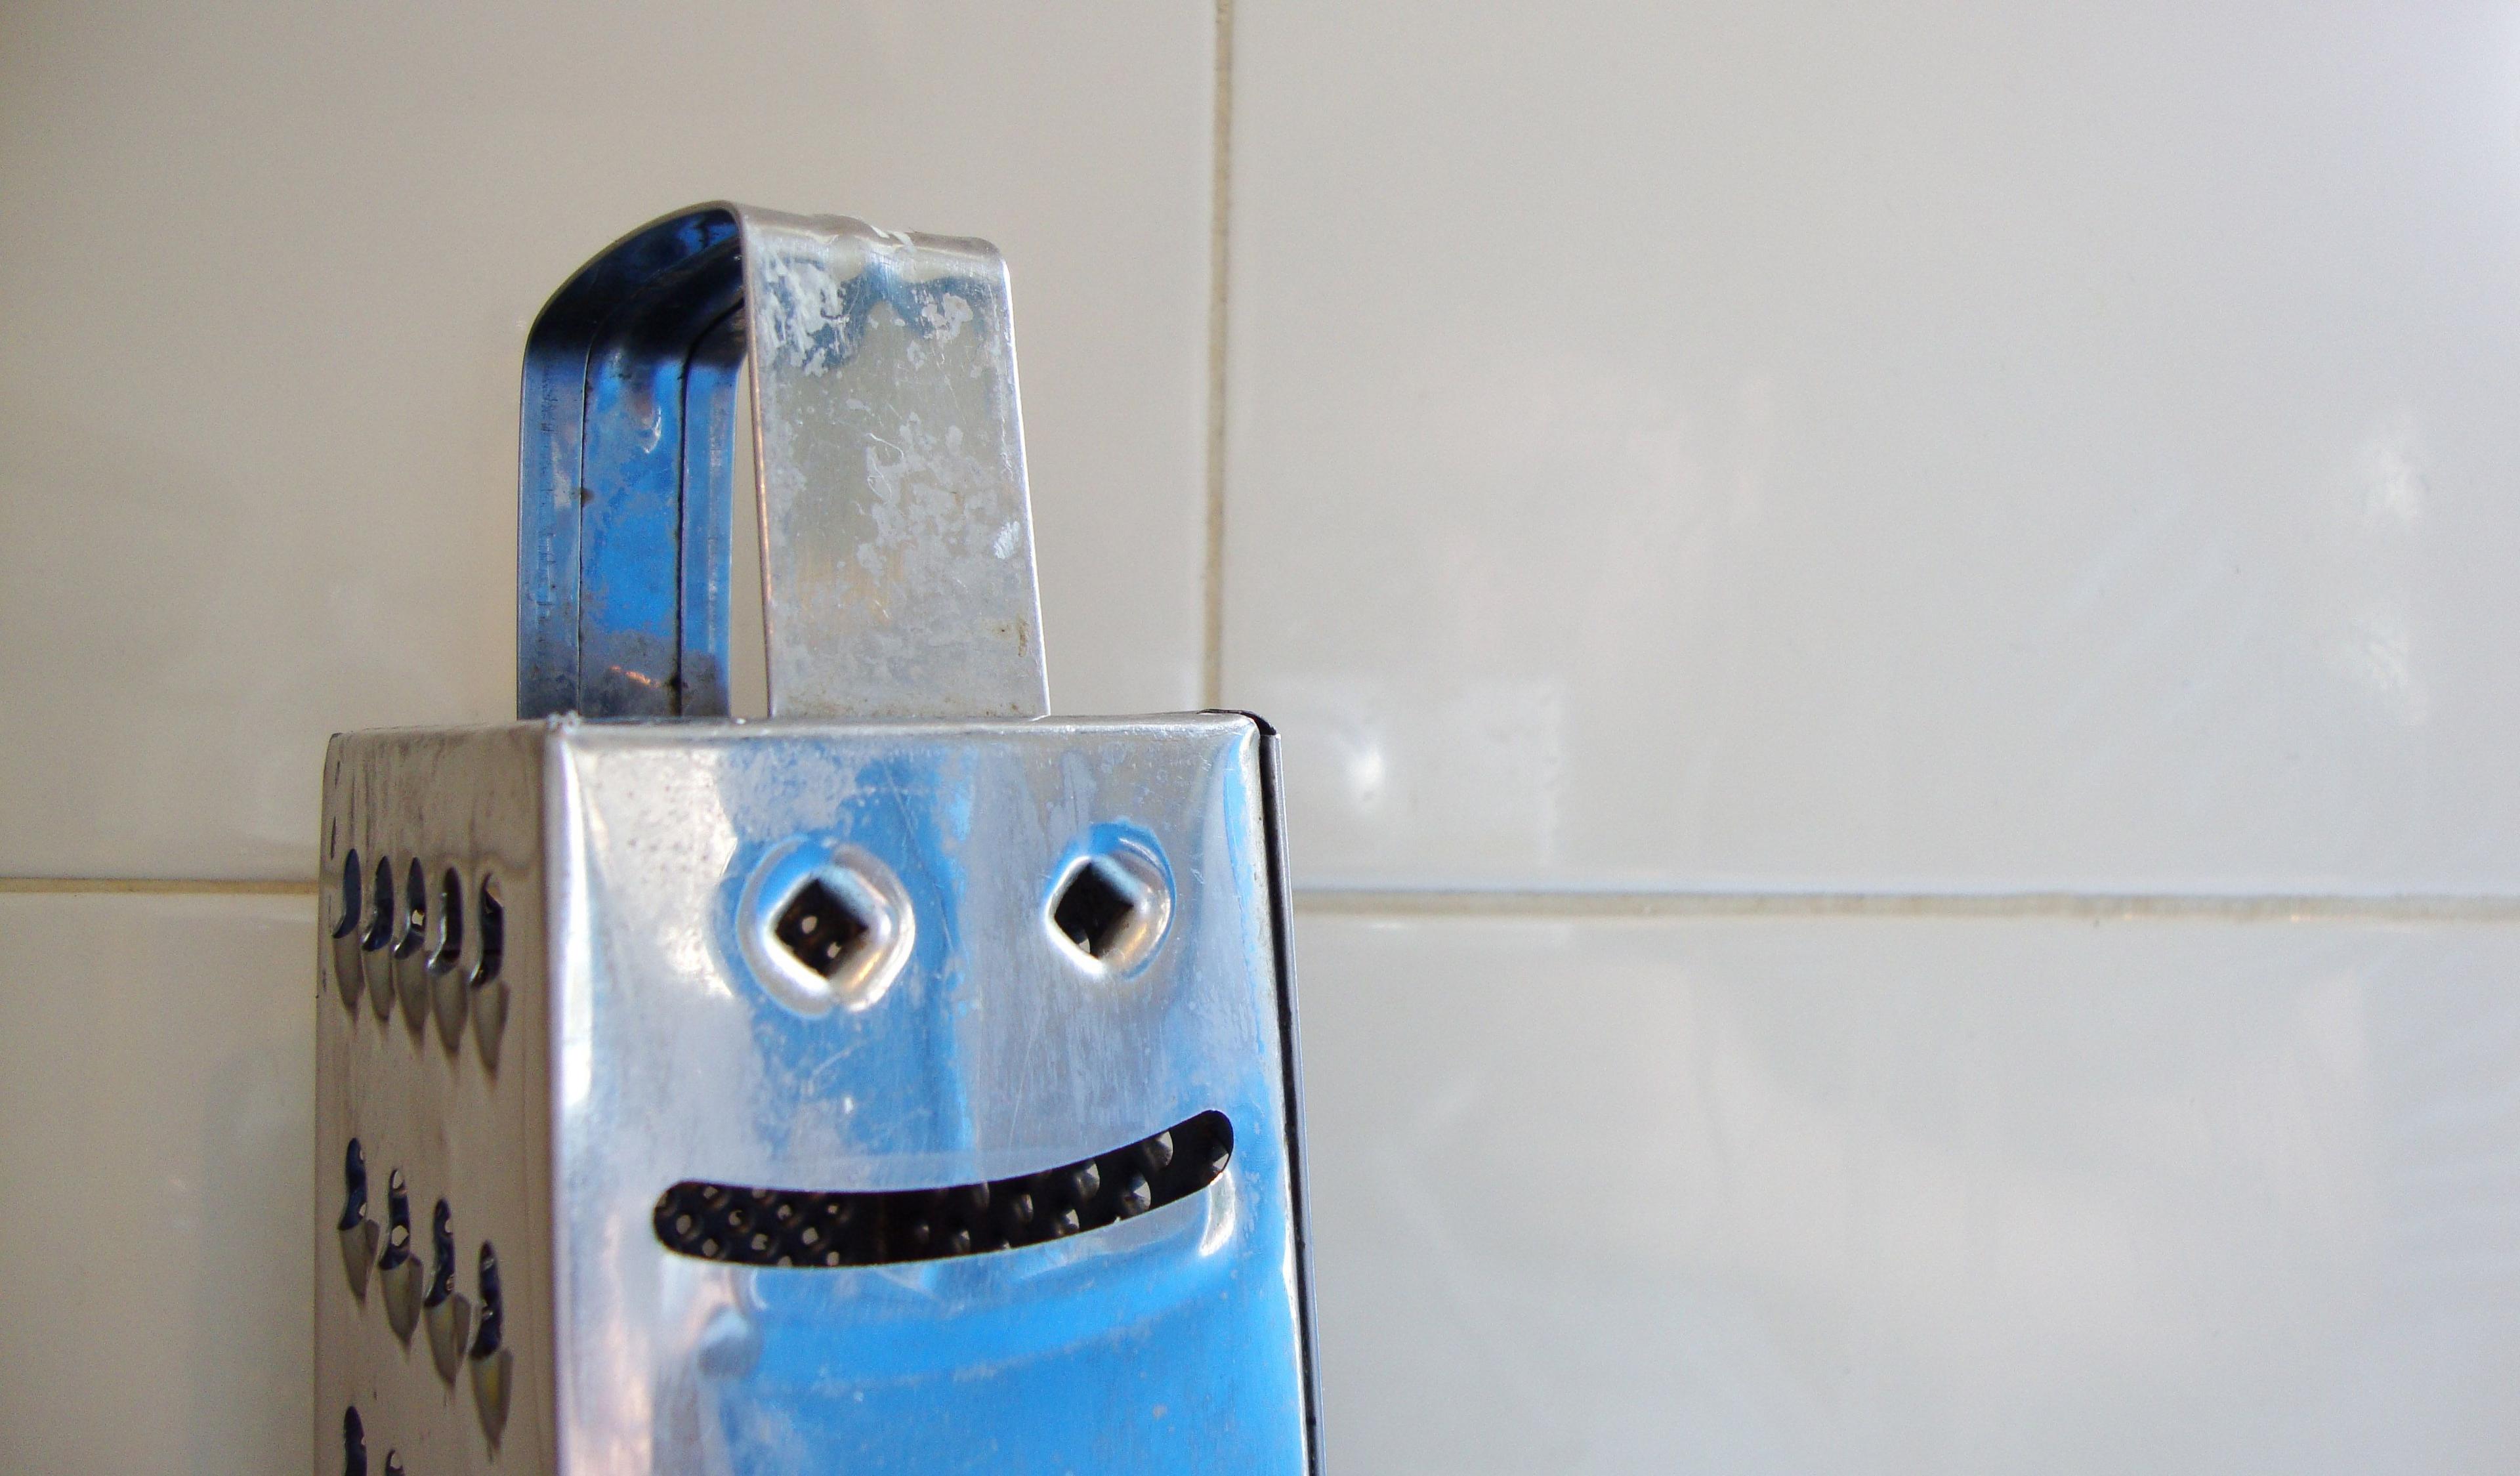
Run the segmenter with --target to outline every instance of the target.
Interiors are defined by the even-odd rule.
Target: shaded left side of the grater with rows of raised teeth
[[[396,1456],[413,1476],[552,1471],[552,1237],[547,1108],[547,992],[542,927],[544,725],[401,728],[333,738],[323,786],[323,887],[315,1010],[315,1471],[348,1471],[343,1413],[355,1408],[368,1471]],[[343,929],[343,864],[358,856],[358,907]],[[360,947],[375,919],[373,869],[396,889],[421,861],[421,945],[398,957],[411,924],[388,907],[386,947]],[[461,879],[466,922],[444,970],[446,871]],[[481,884],[496,887],[501,937],[484,970]],[[338,937],[335,937],[338,934]],[[461,1013],[441,1008],[459,990]],[[496,1050],[484,1048],[484,1008],[496,1000]],[[413,1010],[418,1002],[418,1010]],[[451,1025],[451,1028],[449,1028]],[[491,1065],[491,1055],[496,1065]],[[353,1272],[340,1234],[345,1146],[360,1141],[365,1219],[378,1239]],[[396,1327],[383,1254],[388,1181],[408,1184],[411,1249],[431,1274],[431,1212],[451,1209],[454,1292],[481,1305],[479,1247],[494,1244],[501,1280],[507,1418],[499,1438],[481,1418],[494,1353],[438,1370],[433,1327]],[[471,1332],[474,1327],[466,1327]]]

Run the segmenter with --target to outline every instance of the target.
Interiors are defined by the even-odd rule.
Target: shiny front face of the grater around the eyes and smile
[[[549,824],[559,1451],[570,1471],[1305,1471],[1308,1350],[1263,738],[1245,718],[564,725]],[[1046,919],[1084,844],[1172,874],[1131,975]],[[867,1008],[736,942],[799,829],[917,914]],[[912,1189],[1217,1108],[1207,1191],[1076,1239],[859,1269],[650,1234],[678,1179]]]

